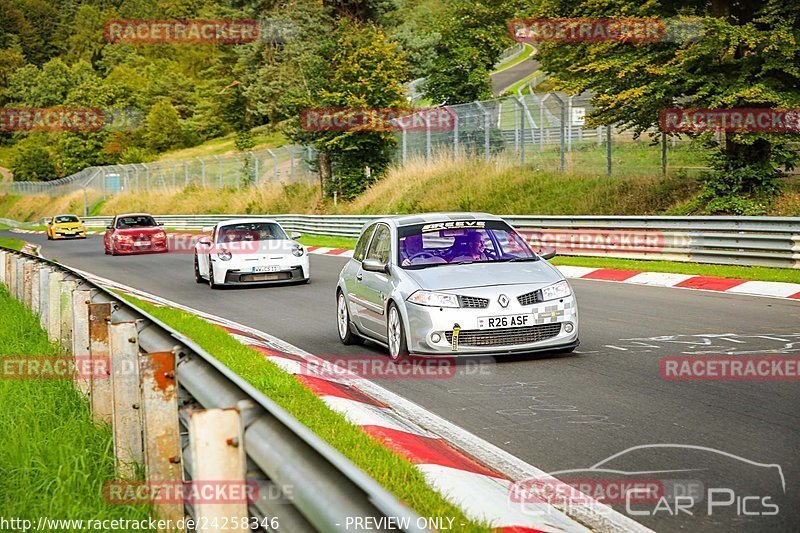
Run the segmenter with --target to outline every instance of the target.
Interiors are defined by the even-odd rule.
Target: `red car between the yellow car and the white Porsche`
[[[162,225],[146,213],[115,216],[103,236],[106,255],[168,252]]]

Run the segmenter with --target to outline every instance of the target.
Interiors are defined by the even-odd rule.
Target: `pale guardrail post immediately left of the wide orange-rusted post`
[[[135,463],[141,464],[144,460],[136,323],[111,324],[109,330],[114,458],[120,477],[133,478]]]

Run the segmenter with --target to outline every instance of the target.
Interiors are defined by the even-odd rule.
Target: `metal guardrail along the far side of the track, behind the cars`
[[[231,218],[274,218],[287,230],[357,237],[380,215],[161,215],[166,226],[200,229]],[[503,218],[531,244],[562,255],[661,259],[800,268],[800,218],[675,216],[520,216]],[[111,217],[88,217],[104,227]]]

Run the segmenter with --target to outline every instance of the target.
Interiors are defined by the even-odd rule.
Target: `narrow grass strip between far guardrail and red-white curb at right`
[[[640,270],[644,272],[671,272],[674,274],[697,274],[721,278],[749,279],[755,281],[785,281],[800,283],[800,270],[791,268],[768,268],[729,265],[709,265],[705,263],[678,263],[672,261],[643,261],[637,259],[616,259],[604,257],[556,256],[555,265],[615,268],[620,270]]]

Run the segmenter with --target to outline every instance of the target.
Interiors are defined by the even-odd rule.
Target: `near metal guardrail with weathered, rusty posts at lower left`
[[[249,508],[156,503],[159,518],[249,514],[262,524],[275,518],[280,531],[335,532],[348,517],[394,517],[388,523],[408,524],[403,531],[422,531],[413,511],[273,400],[80,272],[0,248],[0,282],[71,356],[108,357],[109,379],[76,377],[75,385],[94,419],[112,423],[121,477],[137,462],[149,482],[222,474],[260,488]]]

